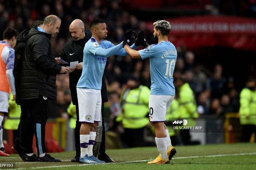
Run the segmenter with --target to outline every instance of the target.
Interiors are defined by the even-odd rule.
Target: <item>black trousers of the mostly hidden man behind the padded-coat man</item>
[[[20,105],[21,114],[20,114],[20,121],[17,129],[17,133],[15,134],[14,139],[14,148],[17,149],[18,152],[25,154],[25,153],[33,153],[33,136],[34,136],[34,125],[33,122],[27,123],[27,112],[28,108],[27,105],[22,104]],[[25,126],[26,124],[26,126]],[[25,139],[27,140],[25,143]],[[27,146],[27,150],[25,150],[25,146]]]

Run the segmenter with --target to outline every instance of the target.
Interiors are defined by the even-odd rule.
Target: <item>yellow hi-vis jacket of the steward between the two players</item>
[[[135,89],[124,89],[121,97],[122,113],[116,118],[116,121],[122,121],[124,128],[139,129],[146,126],[149,122],[148,101],[150,89],[147,86],[140,85]]]

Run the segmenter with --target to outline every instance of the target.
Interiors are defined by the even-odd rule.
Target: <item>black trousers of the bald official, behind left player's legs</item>
[[[78,104],[75,105],[75,111],[76,111],[76,122],[75,122],[75,151],[76,155],[81,154],[80,150],[80,127],[81,123],[79,122],[79,107]],[[101,103],[101,116],[102,116],[102,137],[101,137],[101,143],[99,148],[99,153],[104,154],[105,153],[105,125],[103,120],[103,112],[104,112],[104,102]]]

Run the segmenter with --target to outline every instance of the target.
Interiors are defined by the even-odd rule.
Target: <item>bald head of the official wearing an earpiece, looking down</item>
[[[85,37],[83,21],[80,19],[73,20],[69,26],[69,32],[75,41],[83,39]]]

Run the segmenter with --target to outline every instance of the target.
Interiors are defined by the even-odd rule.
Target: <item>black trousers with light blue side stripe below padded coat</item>
[[[35,135],[35,141],[37,144],[37,154],[46,153],[45,149],[45,124],[48,119],[48,101],[49,99],[39,95],[38,99],[28,100],[27,108],[27,121],[25,124],[25,130],[30,128],[33,124],[33,130]],[[28,124],[28,125],[27,125]],[[28,143],[33,140],[31,138],[25,138],[25,150],[29,150]],[[30,152],[33,153],[33,152]]]

